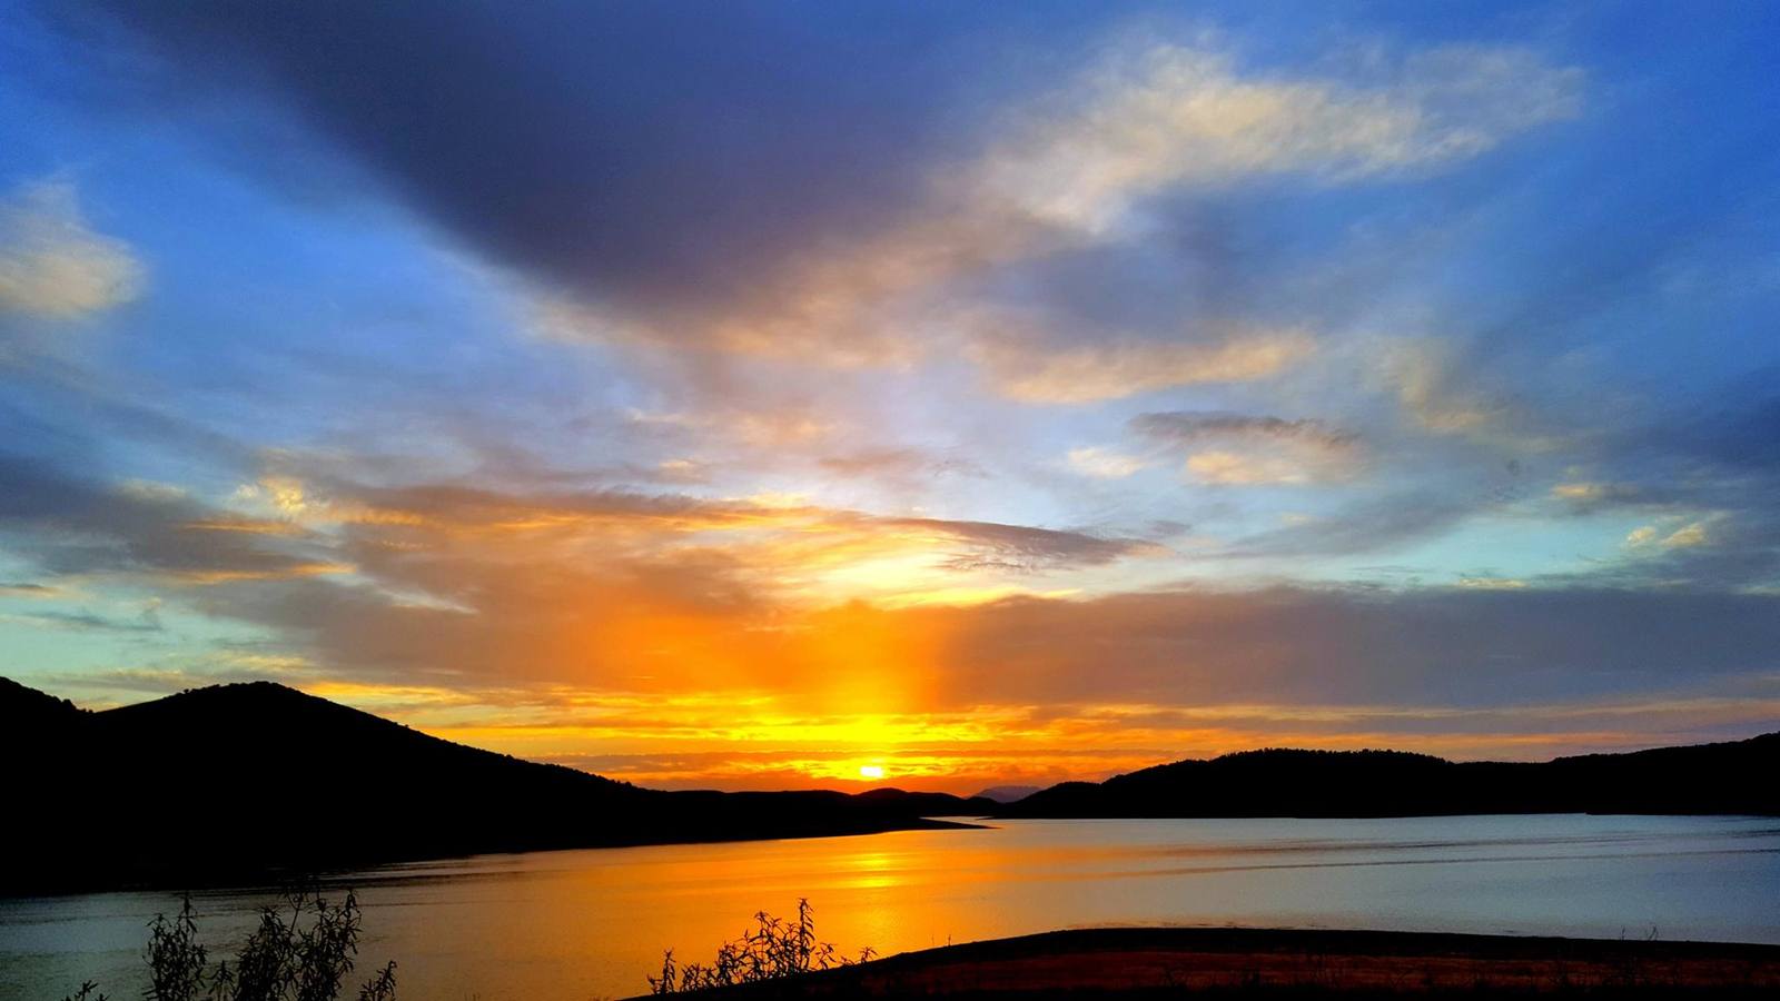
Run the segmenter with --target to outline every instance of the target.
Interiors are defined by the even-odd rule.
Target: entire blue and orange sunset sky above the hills
[[[0,0],[0,673],[659,787],[1780,728],[1776,39]]]

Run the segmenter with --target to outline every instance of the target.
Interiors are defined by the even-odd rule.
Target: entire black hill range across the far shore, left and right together
[[[952,826],[929,818],[1645,812],[1780,816],[1780,732],[1549,762],[1258,750],[999,803],[872,789],[659,791],[228,684],[84,711],[0,679],[0,894],[205,885],[361,864]]]

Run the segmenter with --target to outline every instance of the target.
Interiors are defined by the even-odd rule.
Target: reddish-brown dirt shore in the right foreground
[[[924,949],[700,997],[1775,997],[1780,946],[1091,928]]]

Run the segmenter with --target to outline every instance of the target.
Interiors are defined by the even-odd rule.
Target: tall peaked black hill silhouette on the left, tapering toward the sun
[[[468,748],[271,684],[89,712],[0,679],[0,892],[203,885],[484,851],[949,826],[988,800],[659,791]]]

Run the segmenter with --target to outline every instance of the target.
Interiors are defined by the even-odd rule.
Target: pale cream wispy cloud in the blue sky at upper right
[[[1511,48],[1415,53],[1347,84],[1244,73],[1203,45],[1118,50],[1022,116],[970,182],[984,199],[1088,233],[1175,187],[1305,173],[1326,183],[1476,157],[1581,107],[1581,71]]]

